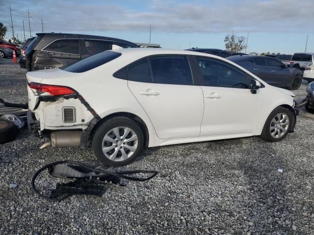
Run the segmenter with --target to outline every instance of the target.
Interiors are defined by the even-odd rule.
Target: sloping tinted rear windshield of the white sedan
[[[95,69],[98,66],[104,65],[105,63],[118,58],[120,55],[121,53],[119,52],[104,51],[96,55],[86,57],[60,69],[68,72],[86,72]]]

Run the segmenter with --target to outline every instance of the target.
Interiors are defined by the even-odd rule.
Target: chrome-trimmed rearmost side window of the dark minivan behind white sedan
[[[79,55],[78,39],[59,39],[43,50]]]

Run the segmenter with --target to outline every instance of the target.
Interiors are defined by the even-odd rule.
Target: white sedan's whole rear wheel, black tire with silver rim
[[[106,120],[98,127],[92,141],[97,159],[104,165],[114,167],[130,164],[141,154],[143,146],[141,128],[126,117]]]

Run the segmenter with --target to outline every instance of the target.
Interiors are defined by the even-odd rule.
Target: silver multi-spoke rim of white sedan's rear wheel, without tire
[[[138,138],[135,132],[125,126],[109,130],[103,139],[102,149],[106,158],[114,162],[125,161],[137,149]]]

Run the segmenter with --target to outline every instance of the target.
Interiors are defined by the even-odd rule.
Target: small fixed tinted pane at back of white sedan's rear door
[[[134,82],[152,82],[148,60],[144,59],[128,67],[129,80]]]

